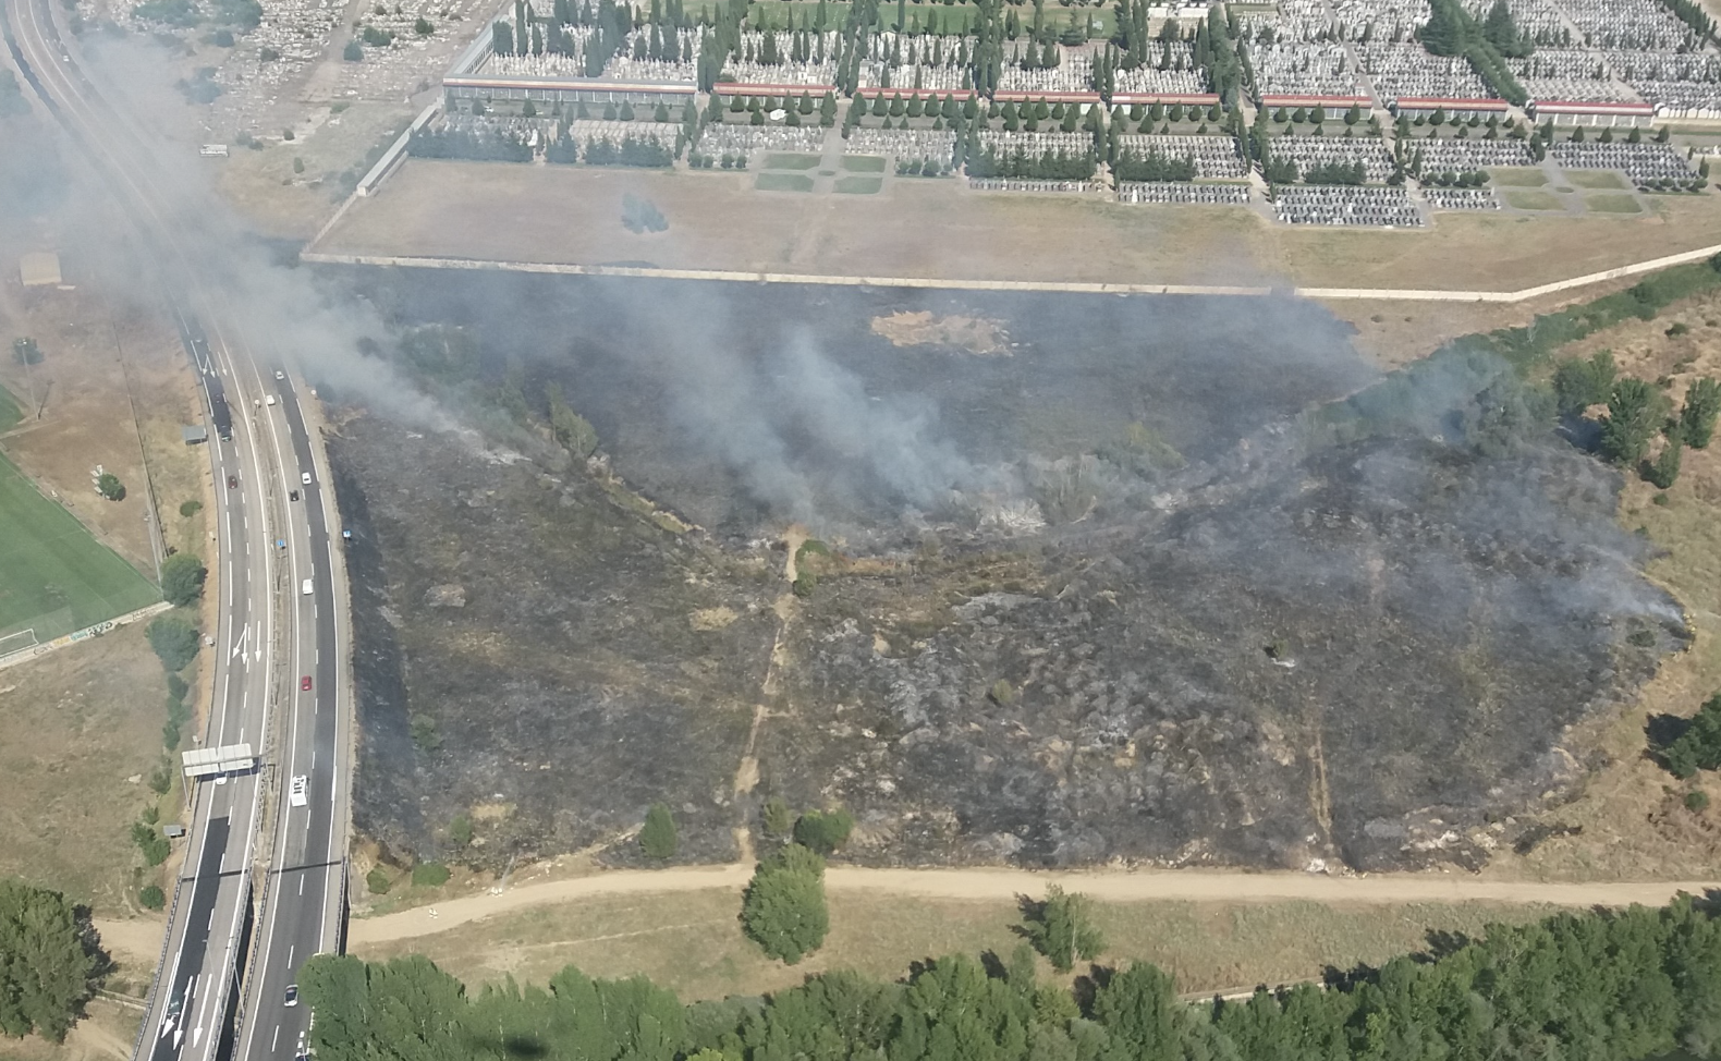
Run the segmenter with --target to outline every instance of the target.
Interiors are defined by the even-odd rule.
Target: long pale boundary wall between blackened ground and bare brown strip
[[[1070,295],[1298,295],[1301,298],[1361,298],[1384,301],[1525,301],[1614,281],[1669,265],[1700,262],[1721,253],[1721,245],[1588,272],[1566,281],[1523,288],[1520,291],[1442,291],[1416,288],[1244,288],[1218,284],[1096,284],[1058,281],[959,281],[904,276],[814,276],[802,272],[735,272],[721,269],[637,269],[625,265],[558,265],[549,262],[480,262],[473,258],[406,258],[394,255],[337,255],[308,251],[305,262],[324,265],[386,265],[396,269],[470,269],[478,272],[539,272],[552,276],[632,276],[666,281],[731,281],[743,284],[830,284],[864,288],[931,288],[941,291],[1062,291]]]

